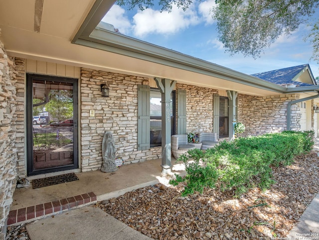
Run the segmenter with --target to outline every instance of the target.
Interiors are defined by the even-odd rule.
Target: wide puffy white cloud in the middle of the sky
[[[190,6],[186,11],[173,5],[171,12],[147,8],[134,15],[134,34],[143,37],[150,33],[171,34],[199,23],[196,11]]]

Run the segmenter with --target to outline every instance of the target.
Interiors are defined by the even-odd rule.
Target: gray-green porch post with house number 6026
[[[176,81],[166,78],[154,78],[161,92],[161,167],[162,174],[170,173],[171,148],[170,148],[170,94]]]

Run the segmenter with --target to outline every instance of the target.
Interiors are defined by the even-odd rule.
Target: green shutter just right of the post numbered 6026
[[[177,134],[186,134],[186,90],[177,89]]]

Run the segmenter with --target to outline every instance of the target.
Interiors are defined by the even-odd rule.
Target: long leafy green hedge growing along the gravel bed
[[[284,131],[224,141],[205,153],[192,149],[178,159],[183,161],[186,175],[177,175],[170,184],[184,182],[182,196],[202,193],[206,187],[233,190],[237,197],[249,188],[265,190],[274,183],[272,167],[291,164],[313,145],[314,131]]]

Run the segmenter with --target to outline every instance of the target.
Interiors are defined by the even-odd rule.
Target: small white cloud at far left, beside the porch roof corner
[[[102,21],[112,24],[114,28],[118,28],[123,34],[130,32],[132,27],[129,18],[125,15],[125,9],[115,4],[102,18]]]

